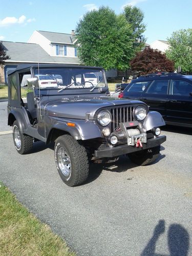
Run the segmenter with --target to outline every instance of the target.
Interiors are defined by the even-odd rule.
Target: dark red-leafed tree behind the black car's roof
[[[150,47],[138,52],[131,60],[130,65],[131,69],[139,75],[174,71],[174,61],[167,59],[165,54]]]

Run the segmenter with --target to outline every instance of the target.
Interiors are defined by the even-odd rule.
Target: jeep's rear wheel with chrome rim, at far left
[[[33,138],[20,132],[17,121],[13,123],[13,142],[21,155],[28,154],[32,150]]]

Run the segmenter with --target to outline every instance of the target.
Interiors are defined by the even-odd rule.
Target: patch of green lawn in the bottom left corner
[[[66,243],[41,223],[0,183],[0,254],[70,255]]]

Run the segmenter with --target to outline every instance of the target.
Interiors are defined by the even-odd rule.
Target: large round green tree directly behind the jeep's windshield
[[[90,66],[126,70],[134,56],[132,26],[109,7],[87,12],[76,28],[78,57]]]

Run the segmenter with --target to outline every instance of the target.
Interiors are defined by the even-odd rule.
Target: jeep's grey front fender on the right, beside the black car
[[[161,114],[156,111],[151,111],[148,112],[144,123],[143,123],[143,128],[146,131],[150,131],[154,127],[159,127],[165,125],[165,121],[163,120]]]

